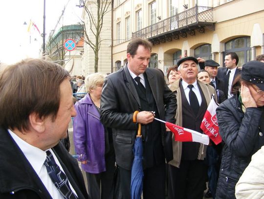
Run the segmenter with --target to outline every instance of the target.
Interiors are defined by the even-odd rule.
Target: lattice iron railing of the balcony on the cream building
[[[213,21],[212,7],[194,6],[184,12],[132,33],[132,38],[151,39],[167,32],[175,32],[186,27],[191,27],[198,23],[210,25]]]

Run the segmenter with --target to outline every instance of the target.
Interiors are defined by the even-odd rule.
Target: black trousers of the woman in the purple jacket
[[[114,163],[113,147],[105,155],[106,171],[99,174],[86,173],[88,194],[91,199],[113,199],[114,194]]]

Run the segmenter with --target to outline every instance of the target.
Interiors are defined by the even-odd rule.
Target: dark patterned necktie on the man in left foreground
[[[50,153],[50,151],[46,151],[46,154],[47,157],[44,165],[46,166],[49,177],[51,178],[56,188],[59,190],[60,194],[65,199],[78,199],[78,197],[75,196],[69,186],[68,178],[56,164],[53,155]]]

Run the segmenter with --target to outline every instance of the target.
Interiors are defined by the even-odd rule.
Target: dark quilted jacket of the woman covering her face
[[[235,199],[235,185],[264,145],[263,108],[247,108],[245,113],[238,95],[225,100],[217,109],[220,135],[224,142],[217,199]]]

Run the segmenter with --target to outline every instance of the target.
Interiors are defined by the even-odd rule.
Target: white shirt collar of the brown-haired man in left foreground
[[[39,175],[46,159],[46,153],[43,150],[25,142],[19,136],[13,133],[10,129],[8,129],[8,132],[15,140],[19,148],[22,150],[23,154],[25,155],[35,172]]]

